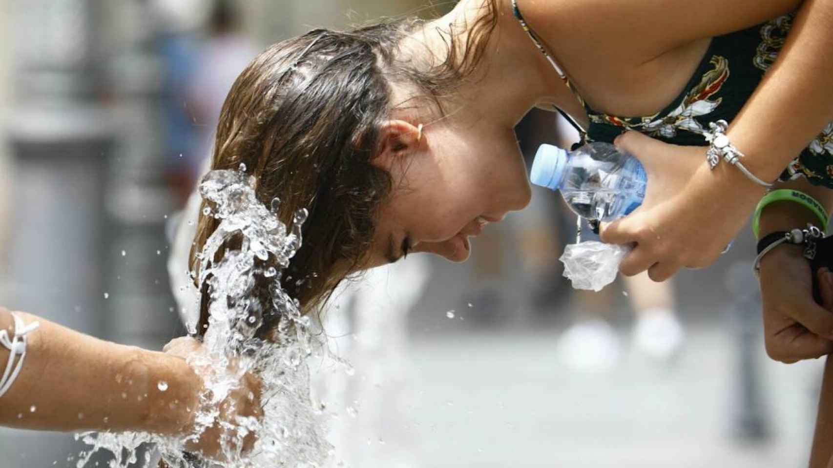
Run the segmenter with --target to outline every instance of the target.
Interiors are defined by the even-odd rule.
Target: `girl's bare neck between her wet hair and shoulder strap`
[[[446,57],[449,25],[459,50],[466,47],[464,25],[486,14],[484,0],[461,0],[443,17],[417,32],[438,60]],[[572,103],[572,96],[546,58],[531,43],[511,12],[510,0],[497,0],[497,24],[480,64],[456,89],[452,107],[463,119],[491,119],[515,126],[534,106]]]

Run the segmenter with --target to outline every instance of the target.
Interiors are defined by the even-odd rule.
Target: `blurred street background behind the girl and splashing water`
[[[312,27],[452,7],[426,2],[0,0],[0,304],[142,347],[182,335],[167,254],[237,73]],[[517,134],[527,161],[576,137],[541,111]],[[333,466],[806,466],[821,362],[766,357],[749,230],[673,283],[576,293],[574,224],[536,189],[467,264],[414,256],[337,295],[323,325],[356,372],[312,364]],[[80,450],[0,428],[3,467]]]

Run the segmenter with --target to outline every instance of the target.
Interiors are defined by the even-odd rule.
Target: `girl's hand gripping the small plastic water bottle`
[[[641,207],[601,228],[603,241],[634,245],[620,265],[628,276],[647,270],[665,281],[680,268],[712,264],[764,192],[734,167],[710,170],[703,146],[670,145],[636,131],[620,135],[616,146],[635,155],[651,181]]]

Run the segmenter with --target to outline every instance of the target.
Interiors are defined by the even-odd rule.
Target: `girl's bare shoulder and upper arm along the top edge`
[[[517,5],[547,42],[581,38],[576,47],[624,46],[651,56],[766,22],[795,10],[801,0],[517,0]]]

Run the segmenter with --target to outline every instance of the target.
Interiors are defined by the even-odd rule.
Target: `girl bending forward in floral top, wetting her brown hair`
[[[710,168],[711,123],[731,121],[723,131],[751,175],[780,175],[829,211],[831,17],[831,0],[462,0],[431,22],[316,30],[237,78],[212,169],[244,163],[287,224],[309,210],[282,283],[311,312],[342,279],[409,253],[465,260],[469,237],[530,199],[513,127],[532,107],[556,109],[641,158],[645,203],[601,234],[635,244],[623,273],[663,280],[716,259],[765,194],[736,167]],[[798,203],[764,208],[761,237],[826,223]],[[193,268],[216,225],[201,217]],[[833,315],[810,279],[795,246],[761,261],[772,357],[833,351]]]

